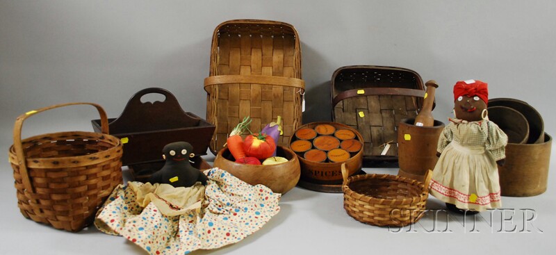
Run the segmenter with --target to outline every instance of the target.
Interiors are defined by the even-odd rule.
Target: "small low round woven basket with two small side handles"
[[[414,224],[425,211],[428,183],[391,174],[361,174],[347,177],[342,165],[343,207],[359,222],[375,226],[403,227]]]

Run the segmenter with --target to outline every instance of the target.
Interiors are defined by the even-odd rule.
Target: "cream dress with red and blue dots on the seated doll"
[[[149,254],[188,254],[243,240],[276,215],[281,195],[251,186],[217,167],[190,188],[129,182],[95,218],[95,227],[124,236]]]

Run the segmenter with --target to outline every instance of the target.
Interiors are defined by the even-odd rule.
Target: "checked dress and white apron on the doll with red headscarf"
[[[507,135],[494,122],[450,119],[439,138],[430,194],[464,210],[500,208],[496,161],[505,158],[506,144]]]

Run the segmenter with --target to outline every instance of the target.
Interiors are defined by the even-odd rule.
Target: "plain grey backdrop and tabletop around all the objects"
[[[208,75],[213,29],[242,18],[288,22],[300,33],[307,88],[304,122],[329,120],[329,79],[336,68],[391,65],[439,82],[434,110],[438,120],[451,115],[455,81],[480,79],[489,83],[489,97],[521,99],[537,108],[546,131],[554,135],[555,11],[556,2],[548,0],[0,0],[0,149],[8,150],[15,117],[28,110],[93,101],[117,117],[134,92],[152,86],[170,90],[183,108],[204,116],[202,83]],[[24,137],[91,130],[89,120],[96,118],[85,106],[55,110],[28,120]],[[17,210],[6,156],[0,157],[0,170],[0,254],[142,253],[124,238],[95,229],[72,234],[25,220]],[[543,233],[491,233],[489,226],[481,233],[461,227],[453,227],[452,233],[389,233],[352,220],[341,207],[341,195],[295,188],[284,195],[281,213],[261,231],[207,253],[544,254],[556,247],[553,180],[554,171],[543,195],[503,198],[507,208],[537,211],[534,227]],[[431,199],[430,206],[440,208],[435,201]],[[422,220],[425,227],[431,217]],[[522,218],[514,215],[514,220]]]

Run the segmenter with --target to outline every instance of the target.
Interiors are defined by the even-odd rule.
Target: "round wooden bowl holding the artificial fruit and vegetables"
[[[226,170],[251,185],[262,184],[276,193],[286,193],[300,179],[300,162],[295,153],[286,147],[278,146],[277,156],[288,159],[288,162],[277,165],[246,165],[235,163],[227,147],[218,151],[214,159],[214,167]]]

